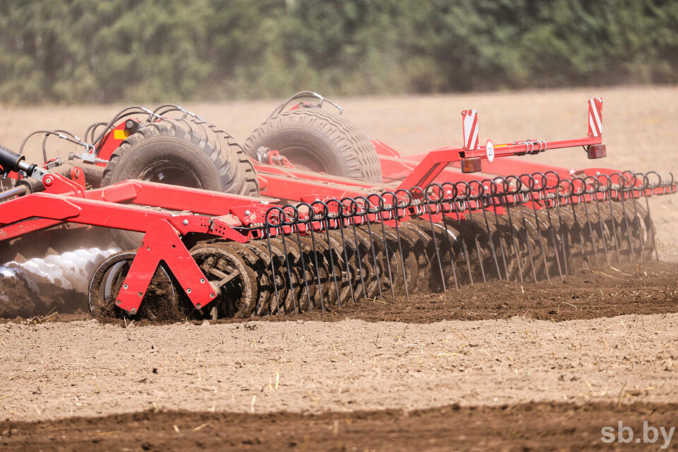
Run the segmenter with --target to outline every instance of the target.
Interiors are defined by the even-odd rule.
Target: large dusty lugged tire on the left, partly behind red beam
[[[254,166],[242,147],[215,126],[194,118],[164,119],[130,135],[112,154],[101,185],[130,179],[238,195],[258,195]],[[143,234],[113,231],[123,250]]]

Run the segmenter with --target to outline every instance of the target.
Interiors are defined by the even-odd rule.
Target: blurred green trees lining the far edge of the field
[[[675,0],[0,0],[0,102],[678,82]]]

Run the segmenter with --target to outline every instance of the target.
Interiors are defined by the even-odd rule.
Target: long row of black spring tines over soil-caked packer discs
[[[280,273],[276,250],[283,254],[278,266],[287,295],[272,279],[268,299],[273,305],[265,311],[319,307],[326,312],[335,297],[341,307],[358,298],[381,300],[384,291],[410,300],[427,287],[447,291],[449,283],[459,288],[483,274],[486,281],[524,281],[530,274],[530,280],[550,283],[557,271],[564,281],[577,263],[609,265],[610,253],[620,261],[653,259],[657,250],[649,204],[641,206],[636,197],[672,185],[655,172],[573,179],[538,172],[271,207],[261,238],[272,272]],[[494,214],[492,221],[488,214]],[[465,250],[466,240],[472,241],[473,254]],[[567,248],[569,243],[576,243],[575,249]],[[466,281],[456,274],[459,259],[468,270]],[[299,304],[302,293],[305,301]],[[290,301],[283,303],[284,298]]]

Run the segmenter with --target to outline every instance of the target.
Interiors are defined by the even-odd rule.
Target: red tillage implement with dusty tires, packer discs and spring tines
[[[121,111],[84,140],[46,132],[82,145],[71,154],[80,166],[47,152],[29,164],[25,142],[19,154],[1,147],[11,183],[0,240],[117,231],[129,251],[88,275],[90,312],[152,320],[324,312],[658,258],[648,197],[675,193],[672,175],[511,158],[570,147],[605,157],[600,99],[588,102],[583,138],[480,145],[477,112],[466,110],[462,147],[400,157],[317,98],[285,109],[290,98],[245,149],[168,105]]]

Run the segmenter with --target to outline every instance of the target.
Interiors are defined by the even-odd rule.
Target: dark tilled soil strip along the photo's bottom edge
[[[602,427],[617,427],[622,421],[642,440],[638,432],[643,422],[671,425],[677,418],[678,405],[673,403],[451,405],[321,415],[145,411],[35,424],[0,422],[0,444],[8,452],[622,451],[629,445],[601,441]],[[650,444],[635,439],[634,451],[656,451],[665,444],[662,436]]]

